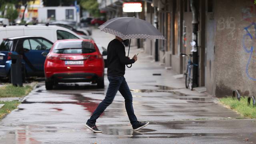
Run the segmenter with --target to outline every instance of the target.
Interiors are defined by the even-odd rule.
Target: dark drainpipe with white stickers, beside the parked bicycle
[[[193,63],[197,66],[193,66],[193,86],[198,86],[198,10],[196,9],[196,0],[190,0],[190,8],[192,10],[192,27],[193,27],[193,33],[192,33],[192,42],[195,42],[195,44],[192,44],[192,50],[193,52]]]

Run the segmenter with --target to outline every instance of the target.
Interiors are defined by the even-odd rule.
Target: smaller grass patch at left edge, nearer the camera
[[[0,120],[1,120],[4,116],[6,116],[6,114],[16,109],[17,106],[20,104],[20,102],[18,100],[13,100],[11,102],[0,101],[0,104],[4,104],[4,106],[0,108]]]

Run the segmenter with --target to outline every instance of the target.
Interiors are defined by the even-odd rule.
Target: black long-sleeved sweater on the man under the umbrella
[[[133,64],[134,59],[125,56],[125,49],[122,42],[114,39],[108,44],[108,76],[124,76],[125,65]]]

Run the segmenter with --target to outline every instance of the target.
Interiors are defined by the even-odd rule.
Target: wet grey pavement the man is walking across
[[[113,37],[93,31],[102,46]],[[105,34],[105,35],[104,35]],[[109,35],[108,35],[109,36]],[[105,44],[105,45],[104,45]],[[132,48],[131,55],[140,52]],[[161,74],[153,76],[153,74]],[[105,89],[89,83],[59,84],[46,90],[40,82],[18,109],[0,122],[0,144],[242,144],[256,143],[256,120],[240,116],[218,104],[215,98],[184,88],[152,58],[140,52],[138,62],[126,70],[133,95],[134,112],[150,124],[133,131],[118,93],[97,121],[102,133],[84,124],[101,100]]]

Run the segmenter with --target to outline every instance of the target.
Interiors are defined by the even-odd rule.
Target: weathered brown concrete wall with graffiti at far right
[[[256,6],[253,0],[214,1],[216,96],[255,94]]]

